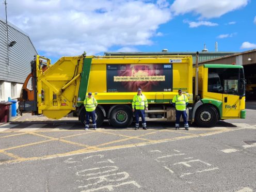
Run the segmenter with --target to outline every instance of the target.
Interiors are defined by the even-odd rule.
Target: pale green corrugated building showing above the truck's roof
[[[199,62],[215,59],[218,57],[232,55],[237,52],[199,52]],[[118,55],[192,55],[193,63],[196,63],[196,52],[105,52],[106,56],[118,56]]]

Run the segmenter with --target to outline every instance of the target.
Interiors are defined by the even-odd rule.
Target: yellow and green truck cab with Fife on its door
[[[243,66],[199,66],[199,105],[193,108],[195,122],[212,126],[217,120],[245,118],[245,77]]]

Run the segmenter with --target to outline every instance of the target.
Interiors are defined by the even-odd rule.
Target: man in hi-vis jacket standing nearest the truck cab
[[[188,104],[188,99],[185,94],[182,94],[182,90],[178,90],[177,95],[175,95],[172,99],[172,105],[176,108],[176,121],[175,121],[175,129],[180,129],[180,118],[182,115],[184,121],[184,127],[188,130],[188,123],[187,123],[187,113],[186,113],[186,106]]]

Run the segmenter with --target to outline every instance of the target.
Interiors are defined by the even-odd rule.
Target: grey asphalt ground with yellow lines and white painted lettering
[[[83,130],[74,118],[0,125],[1,191],[256,191],[256,102],[216,127],[149,122]]]

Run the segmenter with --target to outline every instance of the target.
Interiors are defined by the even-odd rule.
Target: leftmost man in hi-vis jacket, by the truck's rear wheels
[[[89,129],[90,118],[92,119],[92,126],[94,130],[97,130],[97,125],[95,121],[95,108],[97,107],[97,100],[92,97],[91,92],[88,92],[88,96],[85,97],[84,106],[86,110],[86,124],[85,130]]]

